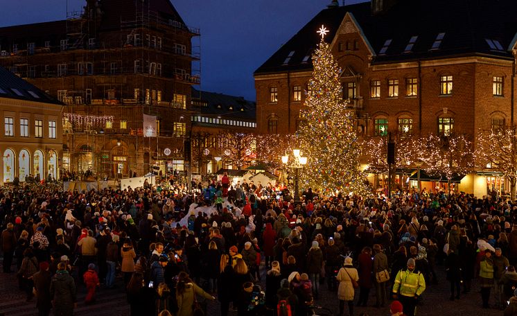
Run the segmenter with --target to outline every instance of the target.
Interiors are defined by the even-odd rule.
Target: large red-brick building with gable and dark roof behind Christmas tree
[[[333,1],[256,69],[257,129],[297,129],[322,25],[363,137],[453,130],[475,139],[514,124],[516,12],[511,0]],[[483,179],[469,175],[460,188],[484,195]]]

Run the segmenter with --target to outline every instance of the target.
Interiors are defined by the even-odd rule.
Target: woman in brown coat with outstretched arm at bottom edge
[[[196,295],[199,295],[211,301],[216,299],[215,297],[209,295],[207,292],[204,292],[202,288],[197,286],[189,278],[189,274],[186,274],[186,272],[179,272],[177,276],[176,286],[176,301],[178,308],[178,311],[176,313],[177,316],[194,315],[194,310],[192,306],[194,304]]]

